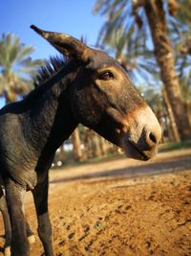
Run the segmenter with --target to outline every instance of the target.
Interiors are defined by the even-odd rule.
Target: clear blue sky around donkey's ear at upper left
[[[1,0],[0,35],[12,33],[32,45],[32,58],[49,58],[55,53],[49,43],[30,29],[32,24],[77,38],[83,35],[89,45],[95,45],[104,20],[93,14],[95,3],[96,0]]]

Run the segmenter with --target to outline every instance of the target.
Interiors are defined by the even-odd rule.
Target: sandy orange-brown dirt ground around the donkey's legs
[[[191,255],[191,150],[52,171],[54,255]],[[36,234],[30,193],[26,214]],[[0,255],[4,244],[0,216]],[[36,235],[32,256],[43,252]]]

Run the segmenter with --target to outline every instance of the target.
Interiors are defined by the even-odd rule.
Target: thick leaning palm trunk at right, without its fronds
[[[175,59],[171,41],[167,34],[163,1],[145,0],[144,10],[148,18],[155,47],[155,55],[159,63],[160,77],[165,86],[175,122],[180,133],[180,139],[189,139],[191,137],[191,128],[189,126],[185,106],[182,102],[179,79],[175,71]]]

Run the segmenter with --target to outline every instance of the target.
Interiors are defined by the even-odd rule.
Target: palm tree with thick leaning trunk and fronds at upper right
[[[112,36],[117,35],[118,31],[123,30],[123,38],[128,39],[129,42],[124,43],[125,40],[123,40],[120,53],[122,50],[126,50],[128,44],[137,43],[139,35],[142,35],[143,38],[142,49],[149,49],[149,52],[154,51],[159,64],[160,78],[164,83],[180,138],[184,140],[191,135],[190,125],[175,70],[173,47],[168,36],[166,9],[167,6],[162,0],[97,0],[95,7],[96,12],[107,14],[108,17],[99,36],[99,40],[103,43],[107,43]],[[177,12],[177,2],[169,0],[168,9],[170,14],[174,15]]]

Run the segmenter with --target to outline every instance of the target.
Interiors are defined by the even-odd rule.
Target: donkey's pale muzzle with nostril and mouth
[[[122,138],[122,148],[127,156],[148,160],[158,151],[161,139],[159,122],[149,106],[127,116],[128,131]]]

